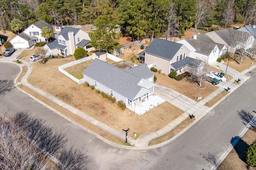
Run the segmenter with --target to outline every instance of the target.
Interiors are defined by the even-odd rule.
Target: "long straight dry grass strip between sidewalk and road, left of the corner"
[[[114,135],[111,135],[108,132],[101,130],[97,126],[83,120],[81,117],[69,112],[67,109],[65,109],[65,108],[53,103],[51,100],[37,94],[37,92],[35,92],[35,91],[33,91],[33,90],[27,88],[26,86],[23,86],[23,85],[18,85],[18,87],[20,89],[28,92],[30,95],[34,96],[35,98],[43,101],[45,104],[49,105],[50,107],[54,108],[55,110],[59,111],[64,116],[67,116],[68,118],[77,122],[78,124],[83,125],[85,128],[88,128],[88,129],[92,130],[93,132],[101,135],[103,138],[106,138],[109,141],[118,143],[119,145],[123,145],[123,140],[121,140],[121,139],[115,137]]]

